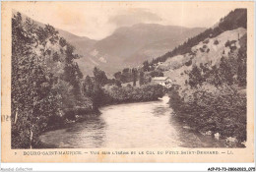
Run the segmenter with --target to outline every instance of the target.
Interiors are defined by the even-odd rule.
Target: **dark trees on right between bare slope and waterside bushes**
[[[227,41],[228,46],[230,42]],[[189,73],[189,86],[202,86],[204,82],[214,86],[246,86],[246,34],[241,37],[239,43],[240,48],[238,51],[229,53],[228,57],[222,57],[219,67],[217,65],[211,66],[208,63],[200,64],[200,67],[193,66],[192,71]]]

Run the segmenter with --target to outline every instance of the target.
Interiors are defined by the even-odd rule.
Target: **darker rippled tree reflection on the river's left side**
[[[68,129],[51,131],[40,136],[42,143],[58,147],[101,147],[105,138],[105,123],[100,116],[77,123]],[[87,142],[90,141],[90,142]]]

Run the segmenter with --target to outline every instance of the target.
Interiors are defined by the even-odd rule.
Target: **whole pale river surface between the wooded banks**
[[[224,147],[224,141],[203,136],[173,118],[168,97],[158,101],[110,105],[101,114],[67,129],[44,133],[45,144],[66,148]]]

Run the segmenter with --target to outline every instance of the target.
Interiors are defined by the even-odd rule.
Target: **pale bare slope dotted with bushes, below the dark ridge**
[[[232,48],[232,53],[238,53],[240,48],[239,38],[246,34],[246,29],[239,28],[224,31],[222,34],[207,38],[191,48],[192,53],[177,55],[167,59],[158,65],[158,69],[163,70],[164,76],[173,79],[176,85],[184,86],[188,81],[188,74],[193,66],[209,64],[219,66],[221,58],[228,58]],[[226,42],[233,42],[232,46],[225,46]],[[186,65],[187,64],[187,65]]]

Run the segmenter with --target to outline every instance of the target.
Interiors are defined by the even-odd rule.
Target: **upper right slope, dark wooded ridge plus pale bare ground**
[[[188,74],[195,67],[204,70],[216,68],[219,71],[224,60],[239,60],[241,54],[246,52],[246,32],[246,9],[235,9],[213,28],[189,38],[172,51],[153,60],[151,64],[155,66],[155,70],[160,70],[164,76],[170,77],[174,84],[186,87]],[[230,69],[237,70],[235,65]]]

